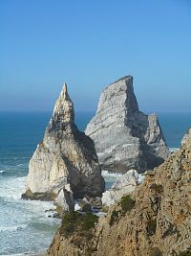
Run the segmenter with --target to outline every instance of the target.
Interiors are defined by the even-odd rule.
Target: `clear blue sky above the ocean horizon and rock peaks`
[[[141,110],[191,111],[190,0],[0,0],[0,110],[75,110],[134,77]]]

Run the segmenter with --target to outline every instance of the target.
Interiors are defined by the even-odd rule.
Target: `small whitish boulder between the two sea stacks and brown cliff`
[[[138,185],[138,172],[130,170],[117,179],[112,188],[102,194],[102,204],[110,206],[124,195],[131,194]]]

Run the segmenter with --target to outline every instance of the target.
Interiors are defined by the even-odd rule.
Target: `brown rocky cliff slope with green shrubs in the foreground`
[[[47,255],[191,255],[191,133],[180,151],[145,176],[131,197],[112,206],[87,236],[57,231]]]

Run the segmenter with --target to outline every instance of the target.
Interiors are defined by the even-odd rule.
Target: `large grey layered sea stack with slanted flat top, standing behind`
[[[158,117],[138,110],[130,76],[101,93],[96,116],[85,133],[95,142],[102,169],[108,171],[143,172],[161,164],[169,154]]]

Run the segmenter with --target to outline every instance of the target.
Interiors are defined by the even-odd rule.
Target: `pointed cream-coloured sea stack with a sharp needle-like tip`
[[[74,124],[74,104],[66,83],[44,139],[32,155],[23,198],[55,199],[59,192],[64,195],[62,190],[74,198],[101,196],[104,190],[94,142]]]

